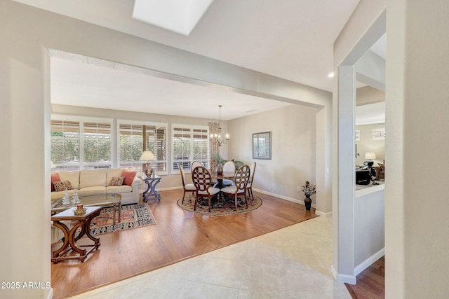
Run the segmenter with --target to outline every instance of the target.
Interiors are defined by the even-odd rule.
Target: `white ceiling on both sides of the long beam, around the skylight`
[[[16,1],[331,92],[333,43],[359,0],[215,0],[188,36],[133,19],[132,0]],[[225,100],[222,119],[288,105],[67,57],[52,57],[51,67],[58,104],[129,110],[133,101],[138,111],[180,116],[206,104],[203,117],[214,119]]]

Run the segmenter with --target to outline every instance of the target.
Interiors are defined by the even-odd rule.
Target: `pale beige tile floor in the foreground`
[[[332,218],[317,217],[72,298],[347,298],[330,274]]]

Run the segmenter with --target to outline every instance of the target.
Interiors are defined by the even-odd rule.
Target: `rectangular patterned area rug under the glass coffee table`
[[[147,225],[154,225],[156,221],[147,204],[127,204],[121,206],[120,222],[114,224],[112,207],[103,208],[100,215],[92,219],[92,235],[102,235],[117,230],[129,230]],[[116,215],[117,218],[117,215]]]

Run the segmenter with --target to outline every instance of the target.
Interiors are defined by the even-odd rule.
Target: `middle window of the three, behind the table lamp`
[[[156,157],[151,167],[156,174],[168,174],[167,124],[117,120],[119,128],[119,167],[135,167],[143,170],[145,162],[139,161],[143,151],[152,151]]]

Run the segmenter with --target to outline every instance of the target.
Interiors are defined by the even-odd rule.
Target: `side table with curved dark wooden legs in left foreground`
[[[98,246],[100,246],[100,238],[93,237],[93,235],[91,235],[90,225],[92,219],[100,214],[102,207],[86,207],[86,214],[83,215],[75,215],[73,210],[74,209],[67,209],[51,216],[53,225],[60,228],[62,232],[64,232],[64,244],[62,244],[60,249],[53,251],[53,257],[51,258],[53,263],[58,263],[60,260],[69,259],[81,260],[81,262],[83,262],[88,254],[93,251],[93,249],[98,249]],[[65,223],[62,223],[62,221],[78,222],[73,225],[72,228],[68,228]],[[75,237],[75,232],[78,228],[81,228],[81,232]],[[83,235],[86,235],[89,239],[91,239],[93,244],[76,246],[76,241],[81,239]],[[81,247],[91,248],[86,251],[86,249]],[[79,255],[67,256],[66,254],[69,253],[69,251],[76,251]]]

